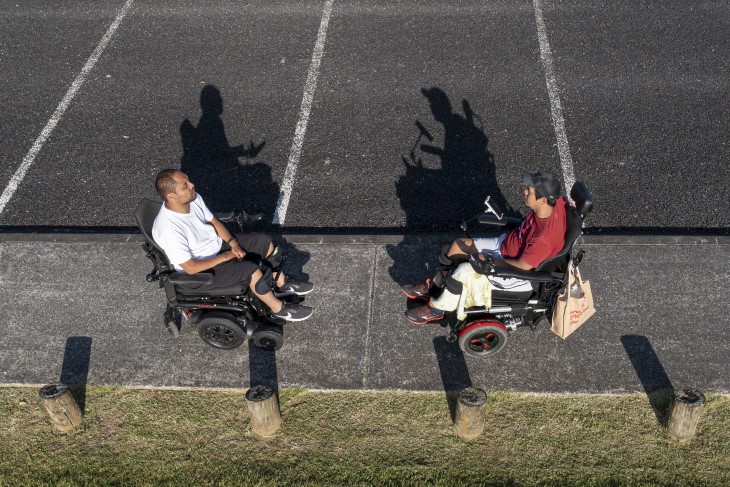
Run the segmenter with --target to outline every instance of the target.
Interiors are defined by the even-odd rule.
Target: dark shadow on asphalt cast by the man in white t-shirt
[[[230,145],[221,118],[223,97],[214,85],[201,90],[200,110],[197,126],[188,119],[180,125],[180,170],[195,184],[211,211],[263,213],[264,220],[250,228],[265,227],[276,209],[279,185],[272,179],[270,166],[249,161],[259,155],[266,142]]]

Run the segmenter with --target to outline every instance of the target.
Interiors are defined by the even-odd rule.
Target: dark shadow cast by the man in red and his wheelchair
[[[484,211],[488,195],[505,214],[519,216],[497,184],[494,156],[489,152],[482,118],[465,99],[461,101],[464,114],[454,111],[449,97],[438,87],[422,88],[421,93],[434,121],[443,125],[444,140],[439,146],[429,130],[433,124],[415,121],[416,139],[400,161],[405,174],[395,183],[406,228],[414,233],[444,229],[459,232],[462,221]],[[407,235],[400,244],[386,248],[393,259],[390,275],[399,285],[411,282],[405,276],[410,274],[409,269],[420,266],[412,258],[403,258],[419,243],[417,237]]]

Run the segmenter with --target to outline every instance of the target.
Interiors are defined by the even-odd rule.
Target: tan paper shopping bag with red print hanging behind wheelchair
[[[572,261],[568,264],[568,272],[568,286],[555,301],[550,328],[560,338],[573,333],[596,313],[590,282],[581,279],[580,270]]]

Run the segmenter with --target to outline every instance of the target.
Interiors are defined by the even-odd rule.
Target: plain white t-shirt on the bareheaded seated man
[[[185,272],[180,264],[190,259],[201,260],[218,254],[223,240],[215,227],[208,223],[213,219],[203,198],[195,193],[189,213],[168,210],[163,204],[152,225],[152,238],[167,254],[175,269]]]

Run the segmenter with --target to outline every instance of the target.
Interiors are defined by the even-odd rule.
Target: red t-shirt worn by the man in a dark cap
[[[500,252],[506,259],[522,258],[533,269],[543,260],[554,256],[565,243],[565,206],[569,204],[561,196],[547,218],[538,218],[531,211],[519,228],[512,230],[502,242]]]

